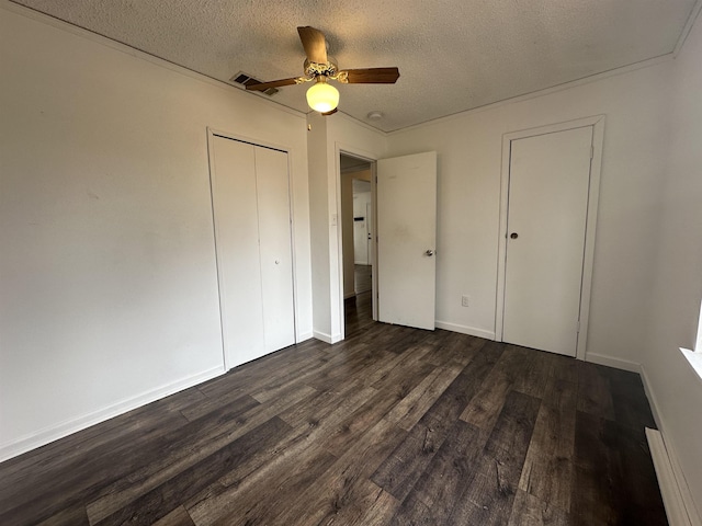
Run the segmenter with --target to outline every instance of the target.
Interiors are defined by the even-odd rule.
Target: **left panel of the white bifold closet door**
[[[212,195],[227,368],[265,354],[256,148],[214,137]]]

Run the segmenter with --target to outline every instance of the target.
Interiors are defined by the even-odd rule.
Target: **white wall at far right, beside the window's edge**
[[[670,151],[657,231],[652,317],[643,369],[672,448],[702,514],[702,380],[678,347],[693,348],[702,299],[702,19],[673,64]]]

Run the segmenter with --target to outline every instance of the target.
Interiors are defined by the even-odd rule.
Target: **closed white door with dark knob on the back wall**
[[[576,355],[592,126],[511,141],[502,341]]]

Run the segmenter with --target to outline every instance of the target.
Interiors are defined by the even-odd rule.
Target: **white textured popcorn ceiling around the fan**
[[[697,0],[13,1],[224,81],[302,75],[312,25],[341,69],[399,67],[336,84],[340,111],[390,132],[669,54]],[[270,99],[307,112],[305,90]]]

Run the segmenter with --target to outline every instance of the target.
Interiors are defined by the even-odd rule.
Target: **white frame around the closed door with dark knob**
[[[507,133],[502,136],[502,168],[500,179],[500,221],[498,230],[497,286],[495,311],[495,340],[502,341],[505,322],[505,277],[507,271],[507,216],[509,209],[509,176],[512,140],[539,135],[566,132],[568,129],[592,127],[592,159],[590,160],[590,184],[582,259],[582,278],[580,284],[580,320],[576,358],[585,359],[587,350],[588,322],[590,317],[590,293],[592,286],[592,265],[595,260],[595,235],[597,210],[600,195],[600,173],[602,168],[602,144],[604,138],[604,115],[578,118],[564,123],[539,126]]]

